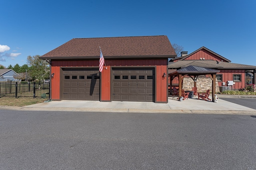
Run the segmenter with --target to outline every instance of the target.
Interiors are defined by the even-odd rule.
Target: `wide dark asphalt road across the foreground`
[[[256,169],[256,116],[0,110],[0,170]]]

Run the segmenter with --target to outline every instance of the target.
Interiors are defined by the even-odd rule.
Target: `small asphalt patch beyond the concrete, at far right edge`
[[[255,98],[221,98],[228,102],[239,104],[245,107],[256,109],[256,99]]]

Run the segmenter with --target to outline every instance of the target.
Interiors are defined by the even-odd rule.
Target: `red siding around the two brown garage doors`
[[[111,75],[110,66],[156,66],[156,102],[168,102],[167,81],[162,79],[167,74],[167,59],[145,59],[145,60],[105,60],[107,69],[101,73],[101,100],[110,101]],[[60,100],[60,67],[98,67],[99,61],[52,61],[52,100]],[[104,68],[106,68],[104,67]]]

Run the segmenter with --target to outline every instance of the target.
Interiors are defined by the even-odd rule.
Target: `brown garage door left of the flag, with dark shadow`
[[[63,69],[63,100],[99,100],[98,69]]]

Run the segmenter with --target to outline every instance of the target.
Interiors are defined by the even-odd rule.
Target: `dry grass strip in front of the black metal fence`
[[[42,103],[47,99],[34,98],[0,98],[0,106],[28,106],[31,104]]]

